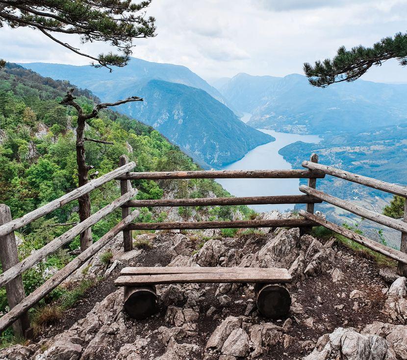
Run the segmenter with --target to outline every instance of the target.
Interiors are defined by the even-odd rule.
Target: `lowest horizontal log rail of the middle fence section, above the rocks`
[[[171,229],[227,229],[256,227],[301,227],[314,226],[305,219],[274,220],[236,220],[236,221],[200,221],[200,222],[138,222],[127,226],[128,230],[171,230]]]

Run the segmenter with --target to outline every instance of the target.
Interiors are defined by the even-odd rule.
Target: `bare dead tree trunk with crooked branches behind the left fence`
[[[95,105],[93,111],[90,114],[84,114],[82,107],[75,101],[76,97],[72,95],[75,89],[71,89],[67,92],[66,96],[62,99],[61,104],[71,105],[77,111],[77,127],[76,127],[76,163],[78,167],[78,185],[83,186],[89,181],[89,170],[93,167],[86,164],[85,159],[85,141],[96,141],[95,139],[88,139],[84,137],[86,121],[98,117],[99,110],[107,108],[109,106],[116,106],[125,104],[131,101],[143,101],[138,96],[127,97],[127,99],[119,100],[113,103],[105,102]],[[99,141],[97,141],[99,142]],[[101,143],[107,143],[100,141]],[[86,193],[78,198],[79,202],[79,219],[84,221],[90,216],[90,198]],[[80,251],[86,250],[92,245],[92,230],[89,228],[80,234]]]

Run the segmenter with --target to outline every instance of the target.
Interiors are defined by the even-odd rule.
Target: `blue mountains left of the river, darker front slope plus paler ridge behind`
[[[183,66],[135,58],[112,73],[90,66],[21,65],[87,88],[103,101],[144,97],[143,103],[122,106],[119,111],[151,124],[206,168],[220,168],[274,140],[242,123],[215,88]]]

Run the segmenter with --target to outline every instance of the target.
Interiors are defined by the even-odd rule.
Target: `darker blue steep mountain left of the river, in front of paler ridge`
[[[205,167],[219,168],[275,140],[240,121],[201,89],[150,80],[136,89],[121,89],[118,95],[124,97],[131,90],[144,101],[122,105],[120,111],[153,126]]]

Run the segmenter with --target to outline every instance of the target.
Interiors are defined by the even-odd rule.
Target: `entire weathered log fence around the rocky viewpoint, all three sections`
[[[301,227],[309,229],[315,225],[323,225],[352,240],[374,249],[392,259],[397,260],[399,272],[406,272],[407,264],[407,218],[405,221],[391,219],[387,216],[370,212],[347,201],[335,198],[324,192],[316,190],[316,180],[322,179],[326,174],[338,176],[349,181],[371,186],[397,195],[407,197],[407,189],[398,185],[388,184],[379,180],[366,178],[346,171],[318,164],[317,155],[313,154],[310,161],[303,163],[305,169],[289,170],[225,170],[225,171],[171,171],[171,172],[129,172],[135,163],[128,163],[126,156],[120,157],[120,167],[90,181],[88,184],[69,192],[68,194],[51,201],[31,213],[18,219],[11,219],[9,209],[0,206],[0,260],[3,273],[0,274],[0,286],[6,287],[10,311],[0,318],[0,331],[13,324],[18,335],[27,335],[29,326],[27,311],[42,298],[61,284],[70,274],[95,255],[103,246],[112,240],[118,233],[123,232],[123,246],[125,251],[132,249],[132,230],[162,230],[162,229],[213,229],[213,228],[258,228],[258,227]],[[216,179],[216,178],[305,178],[308,185],[300,187],[305,195],[279,195],[279,196],[253,196],[253,197],[221,197],[199,199],[159,199],[159,200],[132,200],[137,189],[131,187],[131,180],[150,179]],[[31,221],[45,216],[51,211],[76,200],[110,180],[119,180],[121,196],[108,204],[86,220],[76,224],[60,237],[52,240],[39,250],[36,250],[22,261],[18,260],[14,231],[29,224]],[[315,216],[314,205],[322,201],[330,202],[357,215],[370,218],[382,225],[393,227],[402,231],[402,251],[388,248],[382,244],[357,235],[347,229],[339,227],[327,220]],[[199,222],[165,222],[165,223],[139,223],[133,220],[139,215],[138,210],[130,208],[140,207],[175,207],[175,206],[223,206],[223,205],[254,205],[254,204],[306,204],[306,211],[301,211],[301,218],[275,219],[275,220],[235,220],[235,221],[199,221]],[[28,268],[38,264],[42,259],[66,245],[77,235],[96,224],[104,216],[121,207],[122,221],[109,230],[100,240],[90,245],[73,261],[57,271],[43,285],[25,296],[21,274]],[[407,214],[407,211],[405,212]]]

